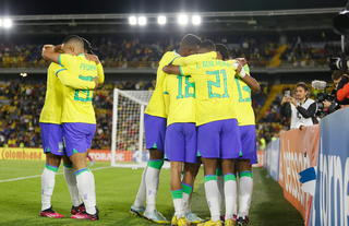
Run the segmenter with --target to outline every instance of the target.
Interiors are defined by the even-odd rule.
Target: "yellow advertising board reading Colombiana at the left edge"
[[[0,159],[4,160],[46,160],[43,148],[8,147],[0,151]]]

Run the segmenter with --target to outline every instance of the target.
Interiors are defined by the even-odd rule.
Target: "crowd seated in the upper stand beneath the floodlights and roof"
[[[206,37],[202,37],[205,39]],[[279,44],[266,38],[227,38],[215,37],[210,39],[216,43],[224,43],[230,50],[230,56],[244,57],[250,67],[265,67],[274,57]],[[179,40],[170,46],[168,39],[163,38],[156,41],[139,38],[117,38],[113,36],[104,38],[91,38],[94,52],[99,57],[105,67],[157,67],[157,62],[167,50],[172,50],[179,46]],[[41,58],[43,44],[13,44],[0,43],[0,67],[25,68],[25,67],[47,67],[47,62]],[[318,59],[338,56],[339,45],[326,43],[320,47],[312,47],[311,44],[301,41],[290,43],[281,56],[281,60],[297,61],[294,63],[315,64]],[[309,62],[306,61],[309,60]],[[315,60],[315,61],[314,61]],[[132,62],[134,62],[132,64]],[[153,62],[153,63],[147,63]],[[294,64],[296,66],[296,64]]]

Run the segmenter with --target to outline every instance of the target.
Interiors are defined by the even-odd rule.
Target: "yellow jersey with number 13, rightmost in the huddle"
[[[236,62],[234,60],[226,61],[228,63]],[[249,66],[244,66],[243,70],[250,74]],[[237,107],[237,117],[239,126],[255,124],[254,111],[252,108],[251,88],[250,86],[236,74],[236,88],[233,90],[234,106]]]

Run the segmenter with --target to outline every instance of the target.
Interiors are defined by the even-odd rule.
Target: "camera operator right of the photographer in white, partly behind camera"
[[[337,91],[338,91],[338,86],[339,86],[339,83],[342,79],[342,71],[341,70],[336,70],[334,71],[334,73],[332,74],[332,80],[334,81],[335,83],[335,87],[336,90],[333,92],[333,94],[335,94],[335,96],[337,96]],[[345,75],[346,76],[346,75]],[[342,84],[340,85],[341,87],[344,86],[344,84],[346,84],[346,80],[348,80],[348,78],[346,76],[342,81]],[[349,86],[348,86],[349,87]],[[349,90],[349,88],[348,88]],[[339,94],[342,95],[344,93],[344,90],[341,88],[339,91]],[[342,99],[342,98],[340,98]],[[332,102],[328,102],[327,99],[325,99],[323,102],[324,104],[324,108],[327,109],[327,115],[332,114],[332,112],[335,112],[336,110],[340,109],[341,107],[344,107],[346,104],[348,105],[349,104],[349,99],[347,98],[344,98],[342,102],[339,102],[338,98],[336,97],[336,102],[335,103],[332,103]]]

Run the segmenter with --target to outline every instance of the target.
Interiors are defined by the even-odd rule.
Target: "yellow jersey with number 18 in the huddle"
[[[192,78],[167,75],[164,94],[167,126],[176,122],[195,123],[195,83]]]

